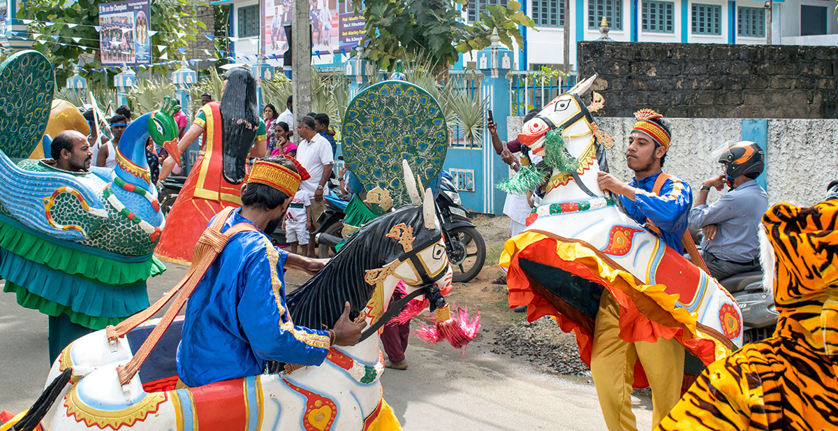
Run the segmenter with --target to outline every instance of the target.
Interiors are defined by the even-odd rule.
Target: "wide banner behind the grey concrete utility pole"
[[[291,21],[291,0],[264,0],[262,8],[262,53],[282,54],[287,50],[284,23]],[[334,54],[346,52],[364,36],[365,19],[355,16],[351,2],[339,0],[309,0],[308,18],[312,26],[312,52]]]

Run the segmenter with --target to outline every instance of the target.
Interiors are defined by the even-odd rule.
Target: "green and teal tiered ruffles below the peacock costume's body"
[[[0,278],[18,304],[67,314],[91,330],[116,325],[148,307],[146,279],[163,271],[152,255],[126,257],[59,241],[0,215]]]

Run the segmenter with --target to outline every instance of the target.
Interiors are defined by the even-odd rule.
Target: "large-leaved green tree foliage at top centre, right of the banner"
[[[457,4],[467,6],[468,0],[355,1],[354,12],[363,12],[366,19],[360,45],[367,58],[388,70],[396,60],[411,60],[420,52],[427,53],[437,66],[453,65],[459,54],[489,46],[494,29],[500,41],[512,49],[513,39],[519,46],[523,44],[520,26],[535,25],[515,0],[506,8],[487,6],[474,23],[463,22]]]

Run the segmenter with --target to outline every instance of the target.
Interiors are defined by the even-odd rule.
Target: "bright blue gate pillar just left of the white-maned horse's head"
[[[498,136],[507,141],[515,138],[513,133],[507,133],[506,127],[506,117],[510,115],[510,80],[506,74],[512,68],[513,52],[500,47],[497,31],[492,34],[491,40],[491,46],[478,51],[477,55],[478,69],[484,75],[480,83],[480,97],[489,100],[489,109],[492,110],[494,122],[498,124]],[[503,214],[506,195],[497,190],[494,184],[509,178],[509,169],[494,152],[488,132],[484,133],[482,156],[485,172],[482,181],[478,181],[483,183],[479,184],[479,188],[483,190],[484,212],[500,215]]]

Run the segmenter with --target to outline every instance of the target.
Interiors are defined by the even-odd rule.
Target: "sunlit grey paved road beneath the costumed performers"
[[[159,298],[185,273],[168,271],[149,283]],[[406,430],[605,430],[587,379],[545,374],[520,360],[490,352],[490,335],[478,337],[465,356],[448,345],[426,347],[411,337],[410,368],[387,370],[384,396]],[[44,387],[47,318],[0,292],[0,410],[28,408]],[[649,397],[633,397],[640,429],[651,427]]]

